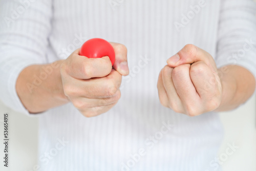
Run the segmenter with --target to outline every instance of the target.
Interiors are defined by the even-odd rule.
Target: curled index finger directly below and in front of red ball
[[[79,56],[76,50],[65,67],[66,72],[77,79],[90,79],[104,77],[112,70],[112,64],[108,56],[102,58],[88,58]]]

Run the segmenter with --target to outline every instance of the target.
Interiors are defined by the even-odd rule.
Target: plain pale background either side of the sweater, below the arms
[[[256,0],[255,0],[256,2]],[[256,98],[252,97],[240,108],[221,113],[225,135],[219,157],[223,171],[256,170]],[[4,144],[0,143],[0,170],[31,171],[37,164],[38,119],[13,112],[0,102],[0,137],[3,139],[3,115],[9,113],[9,168],[3,166]],[[2,122],[1,122],[2,121]],[[2,142],[2,140],[1,140]],[[228,143],[239,146],[228,156]],[[50,170],[49,170],[50,171]],[[159,170],[161,171],[161,170]],[[203,170],[204,171],[204,170]]]

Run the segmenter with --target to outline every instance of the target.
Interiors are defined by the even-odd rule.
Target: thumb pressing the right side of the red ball
[[[126,47],[122,44],[117,44],[115,42],[110,42],[110,44],[113,46],[116,54],[113,68],[123,76],[129,75]]]

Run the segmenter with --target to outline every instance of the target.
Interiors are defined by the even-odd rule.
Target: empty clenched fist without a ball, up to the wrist
[[[162,105],[188,116],[213,111],[222,100],[222,85],[214,59],[194,45],[186,45],[167,60],[159,74],[157,88]]]

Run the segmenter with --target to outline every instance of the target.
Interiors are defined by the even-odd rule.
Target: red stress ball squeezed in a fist
[[[84,42],[80,49],[79,55],[89,58],[101,58],[103,56],[109,56],[112,66],[115,62],[114,48],[108,41],[102,38],[92,38]]]

